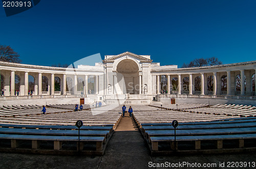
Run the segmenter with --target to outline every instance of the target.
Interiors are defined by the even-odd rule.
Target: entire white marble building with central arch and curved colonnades
[[[230,61],[231,62],[231,61]],[[59,68],[0,62],[1,105],[150,104],[170,103],[255,104],[256,61],[197,68],[160,66],[150,55],[124,52],[105,55],[95,66]],[[29,93],[29,91],[31,91]]]

